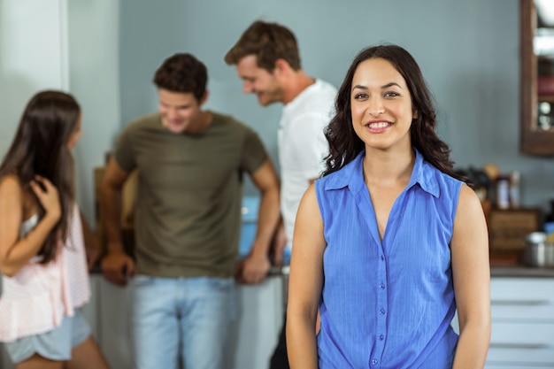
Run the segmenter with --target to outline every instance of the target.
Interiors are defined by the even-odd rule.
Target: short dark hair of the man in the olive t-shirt
[[[200,101],[208,83],[208,71],[192,54],[177,53],[158,67],[153,82],[158,88],[172,92],[190,92]]]

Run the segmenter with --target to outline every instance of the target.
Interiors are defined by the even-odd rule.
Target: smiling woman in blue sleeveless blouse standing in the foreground
[[[435,134],[419,66],[396,45],[362,50],[335,106],[327,169],[296,217],[290,367],[482,368],[487,226]]]

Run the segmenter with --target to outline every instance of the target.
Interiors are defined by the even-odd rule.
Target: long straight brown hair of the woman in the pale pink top
[[[12,174],[31,194],[29,183],[41,175],[58,188],[61,218],[52,228],[39,250],[41,263],[56,258],[58,242],[68,234],[69,217],[75,198],[73,156],[67,148],[81,115],[81,107],[73,96],[65,92],[46,90],[37,93],[28,102],[19,120],[12,145],[0,165],[0,180]],[[39,216],[44,215],[36,199]]]

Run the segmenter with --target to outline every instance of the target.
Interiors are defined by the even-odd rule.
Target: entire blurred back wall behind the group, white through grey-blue
[[[522,205],[548,210],[554,158],[519,152],[519,0],[0,0],[0,155],[36,90],[73,92],[84,113],[78,200],[93,222],[93,169],[121,127],[157,108],[158,65],[189,51],[209,69],[206,107],[253,127],[276,160],[281,106],[244,96],[223,61],[255,19],[293,29],[307,73],[337,86],[361,48],[404,46],[435,95],[457,166],[519,170]],[[254,194],[250,183],[245,192]]]

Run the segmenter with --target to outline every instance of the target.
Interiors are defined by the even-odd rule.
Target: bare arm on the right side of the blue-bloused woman
[[[490,342],[489,233],[473,189],[462,186],[450,243],[459,341],[453,369],[482,369]]]

